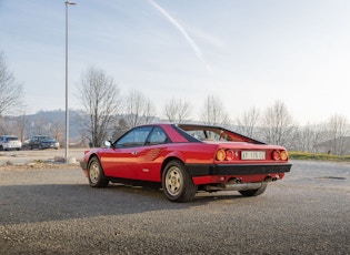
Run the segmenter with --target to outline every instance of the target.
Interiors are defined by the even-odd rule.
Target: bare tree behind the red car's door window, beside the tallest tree
[[[126,121],[130,128],[153,121],[154,106],[141,92],[132,90],[126,101]]]

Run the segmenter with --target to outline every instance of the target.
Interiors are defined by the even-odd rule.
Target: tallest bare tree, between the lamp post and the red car
[[[108,129],[121,108],[119,88],[113,78],[94,67],[81,74],[78,85],[80,102],[89,115],[91,146],[101,146]]]

